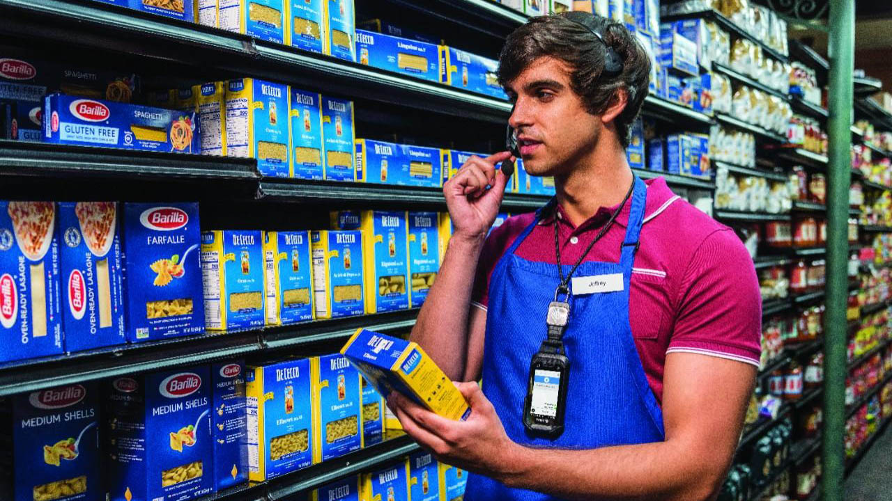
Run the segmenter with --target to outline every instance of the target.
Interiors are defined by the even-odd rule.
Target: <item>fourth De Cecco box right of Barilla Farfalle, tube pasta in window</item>
[[[409,233],[406,213],[397,210],[342,210],[332,226],[362,231],[365,248],[366,313],[409,308]]]

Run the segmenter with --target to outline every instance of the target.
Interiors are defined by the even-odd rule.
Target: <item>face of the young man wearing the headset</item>
[[[565,62],[541,57],[507,90],[515,100],[508,123],[517,131],[527,172],[560,175],[594,150],[602,124],[570,87],[570,67]]]

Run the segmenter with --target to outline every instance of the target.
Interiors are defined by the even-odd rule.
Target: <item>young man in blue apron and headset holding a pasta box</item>
[[[555,203],[486,237],[510,152],[443,187],[454,234],[411,337],[462,382],[471,415],[395,393],[388,405],[473,473],[467,500],[710,499],[731,464],[759,363],[756,273],[730,228],[632,175],[648,72],[619,24],[534,18],[508,37],[499,76],[524,166],[554,176]],[[568,367],[535,372],[547,354]]]

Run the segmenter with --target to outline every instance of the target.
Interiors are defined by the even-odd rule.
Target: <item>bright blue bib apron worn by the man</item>
[[[629,324],[629,281],[647,192],[640,178],[635,177],[634,183],[620,262],[585,262],[574,273],[574,276],[622,273],[623,290],[576,295],[570,300],[570,323],[564,333],[570,377],[565,429],[557,439],[533,438],[524,429],[530,360],[546,337],[545,314],[560,282],[556,265],[528,261],[515,254],[541,220],[542,209],[492,272],[483,347],[483,393],[495,407],[508,437],[519,444],[590,449],[665,439],[663,413],[648,385]],[[564,275],[571,268],[572,265],[565,265]],[[467,480],[465,499],[545,501],[558,498],[531,490],[509,489],[496,480],[472,474]]]

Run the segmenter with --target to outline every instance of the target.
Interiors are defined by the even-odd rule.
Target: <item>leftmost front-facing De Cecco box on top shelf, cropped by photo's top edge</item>
[[[284,0],[219,0],[219,27],[250,37],[285,43]]]

